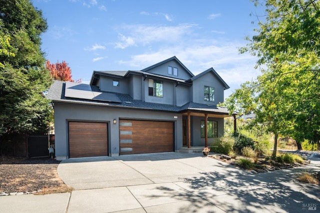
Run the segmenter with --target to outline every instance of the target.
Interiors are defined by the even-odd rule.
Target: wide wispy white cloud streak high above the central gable
[[[119,33],[119,41],[115,42],[115,48],[126,48],[132,45],[146,45],[151,42],[166,41],[169,43],[178,42],[183,36],[192,32],[192,27],[196,24],[179,24],[176,26],[150,25],[150,24],[131,24],[122,25],[121,30],[127,31]]]

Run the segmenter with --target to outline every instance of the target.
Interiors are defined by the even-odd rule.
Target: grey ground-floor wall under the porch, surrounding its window
[[[200,122],[204,120],[204,116],[192,116],[191,119],[191,145],[192,146],[204,146],[205,139],[201,138],[201,130],[200,130]],[[215,118],[208,117],[208,120],[218,121],[218,137],[223,136],[224,133],[224,119],[223,118]],[[210,145],[216,138],[208,138],[208,145]]]

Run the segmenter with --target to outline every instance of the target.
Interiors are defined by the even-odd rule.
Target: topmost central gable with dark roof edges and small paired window
[[[182,80],[187,80],[194,76],[175,56],[146,67],[141,71]]]

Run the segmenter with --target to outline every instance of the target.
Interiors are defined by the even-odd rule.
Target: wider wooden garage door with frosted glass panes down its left
[[[173,132],[173,122],[120,119],[120,154],[173,151]]]

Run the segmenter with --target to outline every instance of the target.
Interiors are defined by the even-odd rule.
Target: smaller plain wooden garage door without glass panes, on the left
[[[107,124],[69,121],[69,157],[106,156]]]

